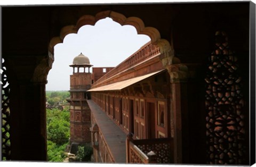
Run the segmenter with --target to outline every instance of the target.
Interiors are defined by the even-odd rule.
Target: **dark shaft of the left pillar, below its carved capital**
[[[11,160],[46,161],[45,84],[17,83],[10,98]]]

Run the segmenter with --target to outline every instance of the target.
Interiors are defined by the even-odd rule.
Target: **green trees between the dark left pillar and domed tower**
[[[50,105],[66,102],[68,91],[46,91],[46,101]],[[63,162],[64,152],[69,142],[69,110],[46,109],[47,158],[50,162]]]

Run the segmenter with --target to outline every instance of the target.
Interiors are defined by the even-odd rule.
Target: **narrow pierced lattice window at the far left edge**
[[[1,88],[2,88],[2,160],[10,160],[11,142],[10,142],[10,107],[9,95],[10,85],[7,80],[7,70],[4,59],[2,59],[1,68]]]

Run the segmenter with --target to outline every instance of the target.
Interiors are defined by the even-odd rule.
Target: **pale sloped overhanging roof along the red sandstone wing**
[[[98,87],[98,88],[93,88],[93,89],[90,89],[90,90],[87,90],[87,91],[120,91],[120,90],[122,90],[126,87],[129,87],[129,86],[131,86],[131,85],[133,85],[133,84],[135,84],[139,81],[142,81],[146,78],[154,76],[155,74],[158,74],[162,71],[164,71],[164,69],[160,70],[160,71],[153,72],[153,73],[146,74],[144,76],[135,77],[135,78],[127,79],[127,80],[124,80],[124,81],[115,82],[113,84],[101,86],[101,87]]]

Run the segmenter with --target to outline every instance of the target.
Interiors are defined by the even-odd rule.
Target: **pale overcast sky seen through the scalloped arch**
[[[121,26],[110,18],[95,26],[83,26],[77,34],[69,34],[54,47],[54,62],[47,76],[46,90],[69,90],[75,56],[83,53],[95,67],[116,66],[150,41],[138,35],[133,26]]]

